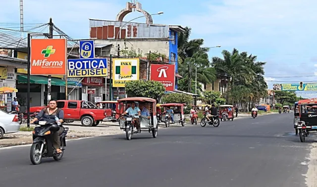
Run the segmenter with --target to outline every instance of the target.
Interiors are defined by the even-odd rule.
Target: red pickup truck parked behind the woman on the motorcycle
[[[31,107],[30,113],[40,112],[44,107]],[[81,121],[83,126],[97,126],[106,118],[106,110],[99,109],[89,101],[58,100],[57,108],[64,111],[64,121]]]

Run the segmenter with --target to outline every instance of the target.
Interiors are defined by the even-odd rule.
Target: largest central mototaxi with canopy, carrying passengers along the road
[[[120,129],[125,131],[127,140],[131,140],[133,134],[141,133],[142,131],[148,131],[152,133],[152,136],[156,138],[158,136],[158,120],[156,114],[156,100],[147,97],[128,97],[118,100],[118,106],[120,115],[126,111],[131,103],[142,103],[145,108],[149,110],[150,116],[139,116],[141,131],[136,129],[135,116],[124,115],[120,117],[119,126]],[[138,105],[136,106],[138,107]],[[122,109],[122,110],[121,110]]]

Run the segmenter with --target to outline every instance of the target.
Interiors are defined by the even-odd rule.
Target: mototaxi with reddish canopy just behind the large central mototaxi
[[[182,126],[185,126],[185,115],[184,115],[184,104],[181,103],[167,103],[160,105],[164,107],[164,114],[162,114],[162,121],[165,122],[165,126],[169,127],[171,122],[171,115],[173,115],[174,123],[179,123]],[[166,113],[166,107],[173,109],[174,114]]]

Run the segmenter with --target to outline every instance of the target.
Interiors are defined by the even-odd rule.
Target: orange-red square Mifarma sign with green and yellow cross
[[[31,39],[31,75],[65,75],[66,39]]]

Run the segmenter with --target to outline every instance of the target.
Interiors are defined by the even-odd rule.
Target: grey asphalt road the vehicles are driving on
[[[0,187],[305,187],[310,143],[292,114],[69,141],[64,158],[33,166],[29,147],[0,149]],[[312,139],[310,139],[312,140]]]

